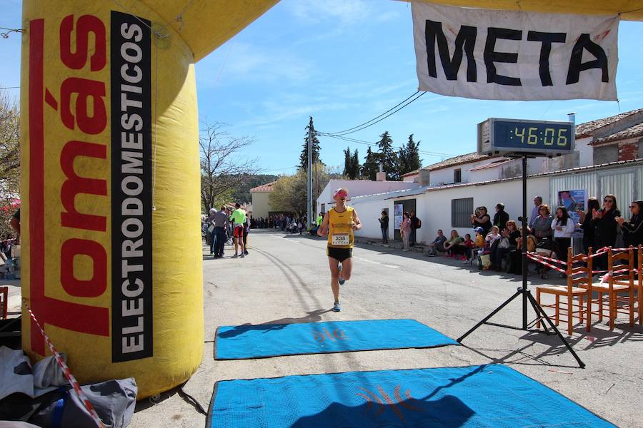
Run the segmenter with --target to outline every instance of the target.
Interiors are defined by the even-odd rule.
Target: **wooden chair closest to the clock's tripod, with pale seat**
[[[581,323],[587,320],[588,332],[591,328],[589,322],[590,301],[592,300],[591,255],[592,248],[589,248],[587,255],[572,255],[572,248],[569,248],[567,250],[567,285],[542,285],[536,287],[536,301],[538,304],[543,308],[551,307],[554,309],[554,324],[559,325],[561,315],[567,315],[563,320],[567,321],[567,335],[569,336],[572,335],[574,314],[578,314]],[[554,295],[556,300],[551,305],[542,305],[540,302],[541,294]],[[578,297],[577,303],[574,302],[574,297]],[[587,301],[585,297],[587,297]],[[577,310],[574,310],[574,308],[577,308]],[[540,320],[537,322],[537,327],[540,327]]]

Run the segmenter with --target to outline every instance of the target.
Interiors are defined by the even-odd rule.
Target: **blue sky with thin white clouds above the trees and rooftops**
[[[0,0],[0,26],[20,25],[21,2]],[[349,137],[394,145],[410,133],[422,141],[423,164],[476,149],[476,125],[488,117],[577,123],[643,107],[643,23],[619,26],[614,101],[479,101],[427,93],[404,110]],[[0,86],[19,85],[20,39],[0,39]],[[384,113],[417,91],[411,7],[391,0],[281,0],[244,31],[196,64],[199,116],[229,124],[256,142],[242,157],[266,173],[292,173],[308,116],[318,131],[342,131]],[[18,95],[17,90],[13,90]],[[367,146],[320,138],[321,160],[343,165],[342,150]]]

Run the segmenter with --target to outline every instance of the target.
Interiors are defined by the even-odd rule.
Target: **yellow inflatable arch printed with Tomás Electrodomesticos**
[[[24,0],[23,295],[80,382],[134,376],[140,399],[199,366],[193,64],[275,3]],[[642,1],[437,3],[643,17]],[[24,349],[43,357],[22,319]]]

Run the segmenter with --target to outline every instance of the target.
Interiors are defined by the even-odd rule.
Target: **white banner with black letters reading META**
[[[414,1],[420,91],[491,100],[616,100],[618,16]]]

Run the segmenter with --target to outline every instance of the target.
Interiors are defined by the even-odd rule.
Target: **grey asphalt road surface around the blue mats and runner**
[[[337,313],[330,311],[333,296],[323,240],[253,230],[250,245],[244,259],[230,259],[226,248],[226,258],[214,260],[204,247],[204,359],[184,392],[206,410],[214,382],[221,379],[502,362],[619,427],[642,426],[639,325],[621,323],[609,332],[596,323],[591,333],[575,327],[570,343],[585,369],[577,367],[555,336],[488,325],[467,337],[464,346],[214,361],[219,325],[413,318],[457,338],[511,296],[520,280],[447,258],[362,245],[354,249],[353,277],[342,286],[342,312]],[[531,279],[530,286],[542,283]],[[549,280],[557,281],[562,283]],[[520,301],[492,321],[521,325]],[[205,416],[189,401],[176,389],[154,404],[142,400],[130,426],[204,427]]]

